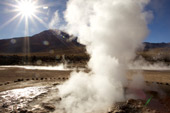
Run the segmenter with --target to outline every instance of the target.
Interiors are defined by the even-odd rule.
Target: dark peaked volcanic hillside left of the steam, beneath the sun
[[[20,37],[0,40],[0,54],[20,53],[79,53],[84,46],[77,39],[59,30],[46,30],[31,37]]]

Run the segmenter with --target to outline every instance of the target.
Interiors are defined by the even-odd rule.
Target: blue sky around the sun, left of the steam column
[[[39,32],[42,32],[44,30],[49,29],[48,25],[50,24],[52,18],[54,17],[54,14],[56,11],[59,12],[61,23],[62,21],[62,15],[63,11],[66,8],[66,2],[67,0],[38,0],[40,8],[38,8],[38,11],[41,11],[42,13],[36,13],[36,16],[41,19],[45,24],[43,25],[40,21],[33,18],[35,21],[35,24],[28,19],[29,21],[29,33],[28,35],[34,35]],[[14,7],[11,7],[8,4],[17,4],[15,0],[0,0],[0,39],[5,38],[13,38],[13,37],[23,37],[25,36],[25,20],[23,19],[20,24],[19,20],[21,16],[13,20],[12,22],[5,24],[8,22],[11,18],[16,16],[18,12],[11,12],[11,10],[15,9]],[[43,7],[48,7],[48,9],[43,9]],[[5,24],[5,26],[4,26]],[[2,27],[3,26],[3,27]]]

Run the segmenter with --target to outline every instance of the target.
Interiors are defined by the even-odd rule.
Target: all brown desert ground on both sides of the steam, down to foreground
[[[56,106],[61,100],[57,96],[57,86],[68,80],[71,72],[72,70],[0,67],[0,113],[60,112],[61,108]],[[125,102],[118,102],[113,107],[108,108],[108,113],[170,112],[170,70],[128,70],[129,84],[132,78],[139,73],[144,77],[142,91],[146,97],[128,98]],[[21,94],[16,93],[18,89],[21,92],[25,91],[26,94],[21,96]],[[125,93],[136,90],[138,91],[138,89],[129,88],[129,86],[125,87]],[[56,93],[55,99],[49,99],[48,97],[54,95],[54,93]],[[15,97],[14,95],[18,96]],[[152,100],[145,106],[150,97],[152,97]]]

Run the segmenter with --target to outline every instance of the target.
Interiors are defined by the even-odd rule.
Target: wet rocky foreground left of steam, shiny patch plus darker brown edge
[[[55,98],[51,98],[52,93],[56,93],[57,83],[46,86],[26,87],[12,89],[0,93],[0,113],[49,113],[54,111],[55,104],[50,103]],[[50,100],[51,99],[51,100]]]

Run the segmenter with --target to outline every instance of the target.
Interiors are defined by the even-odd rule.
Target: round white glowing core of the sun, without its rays
[[[31,0],[22,0],[18,1],[16,11],[18,11],[24,17],[31,17],[35,15],[37,6],[36,3]]]

